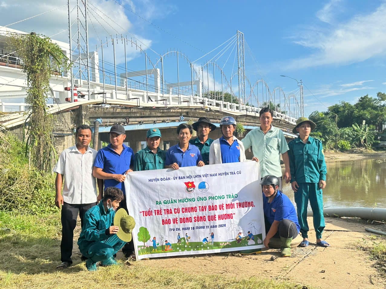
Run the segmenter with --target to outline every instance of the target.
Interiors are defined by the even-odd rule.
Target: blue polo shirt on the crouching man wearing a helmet
[[[296,210],[289,198],[278,191],[272,203],[268,203],[268,198],[263,193],[263,211],[268,223],[272,225],[273,221],[281,221],[283,219],[291,220],[295,223],[298,233],[300,225]]]

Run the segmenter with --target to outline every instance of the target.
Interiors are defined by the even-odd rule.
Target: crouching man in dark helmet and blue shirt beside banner
[[[263,240],[268,247],[271,238],[280,238],[281,256],[291,256],[291,242],[299,234],[300,226],[296,210],[289,198],[279,191],[279,179],[268,175],[262,178],[263,211],[266,237]]]

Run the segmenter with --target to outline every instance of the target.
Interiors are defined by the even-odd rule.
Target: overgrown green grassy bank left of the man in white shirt
[[[0,211],[56,211],[54,176],[29,169],[25,144],[8,134],[0,140]]]

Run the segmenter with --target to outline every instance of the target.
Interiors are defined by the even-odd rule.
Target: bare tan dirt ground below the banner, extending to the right
[[[385,277],[376,269],[376,263],[369,259],[367,252],[356,247],[358,242],[369,239],[369,233],[364,227],[377,226],[357,219],[327,217],[325,221],[323,239],[330,243],[330,247],[316,246],[312,218],[309,217],[310,245],[306,248],[291,249],[291,257],[282,258],[280,250],[269,249],[262,251],[260,255],[212,254],[164,257],[137,262],[155,269],[167,268],[190,274],[221,274],[236,278],[254,276],[326,289],[386,288]],[[80,257],[78,246],[75,244],[77,239],[78,236],[75,235],[74,255]],[[272,256],[278,258],[272,261]],[[122,252],[118,253],[117,259],[126,260]]]

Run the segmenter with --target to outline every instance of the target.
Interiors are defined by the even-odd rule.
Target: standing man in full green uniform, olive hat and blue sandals
[[[310,200],[313,212],[313,225],[316,232],[317,245],[328,247],[326,241],[322,240],[325,227],[323,217],[323,195],[322,189],[326,186],[327,167],[324,161],[322,142],[310,137],[310,132],[316,124],[306,117],[296,120],[296,126],[292,132],[299,133],[297,139],[289,142],[288,156],[291,171],[291,186],[295,194],[295,203],[298,211],[300,233],[303,237],[301,247],[307,247],[308,223],[307,206]]]

